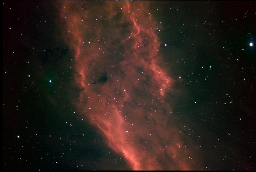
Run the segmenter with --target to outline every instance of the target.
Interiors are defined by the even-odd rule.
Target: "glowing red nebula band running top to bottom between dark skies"
[[[193,155],[167,101],[173,79],[146,1],[64,1],[77,108],[133,170],[187,170]]]

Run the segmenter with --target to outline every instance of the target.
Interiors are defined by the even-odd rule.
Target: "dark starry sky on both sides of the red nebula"
[[[131,170],[77,110],[60,1],[2,3],[3,169]],[[151,1],[148,8],[167,44],[159,51],[175,80],[176,128],[198,148],[191,169],[255,170],[256,2]]]

